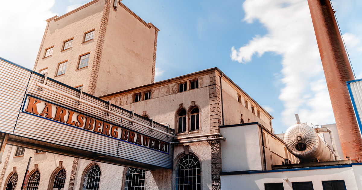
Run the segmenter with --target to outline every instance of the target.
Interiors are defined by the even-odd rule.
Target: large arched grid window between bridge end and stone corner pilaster
[[[196,156],[185,155],[178,161],[176,168],[176,189],[201,189],[201,166]]]

